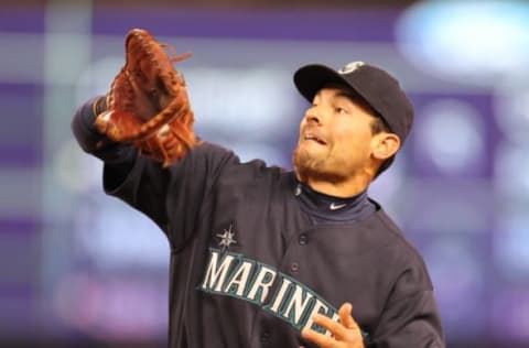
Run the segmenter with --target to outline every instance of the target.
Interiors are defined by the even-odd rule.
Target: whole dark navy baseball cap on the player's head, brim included
[[[338,70],[311,64],[294,74],[295,87],[309,101],[324,85],[333,83],[350,87],[404,142],[413,123],[413,106],[393,76],[364,62],[352,62]]]

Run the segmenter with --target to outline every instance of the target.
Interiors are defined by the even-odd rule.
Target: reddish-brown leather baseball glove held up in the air
[[[172,47],[141,29],[127,34],[125,46],[125,66],[95,126],[110,140],[132,143],[140,154],[168,167],[197,143],[185,81],[173,66],[191,54],[169,56],[164,48]]]

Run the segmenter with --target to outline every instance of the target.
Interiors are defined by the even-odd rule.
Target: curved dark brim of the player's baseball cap
[[[353,88],[342,75],[325,65],[306,65],[294,73],[294,85],[309,101],[327,84],[343,84]]]

